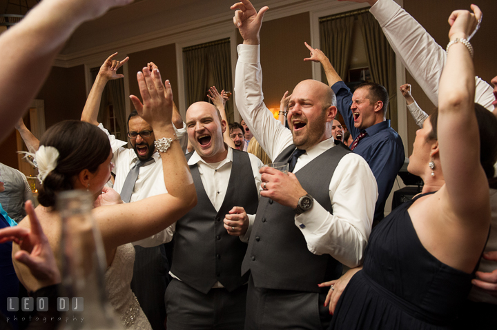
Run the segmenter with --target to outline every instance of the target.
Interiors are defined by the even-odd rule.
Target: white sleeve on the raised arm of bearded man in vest
[[[259,45],[238,45],[235,72],[235,102],[247,126],[274,160],[293,143],[292,135],[264,104]]]

